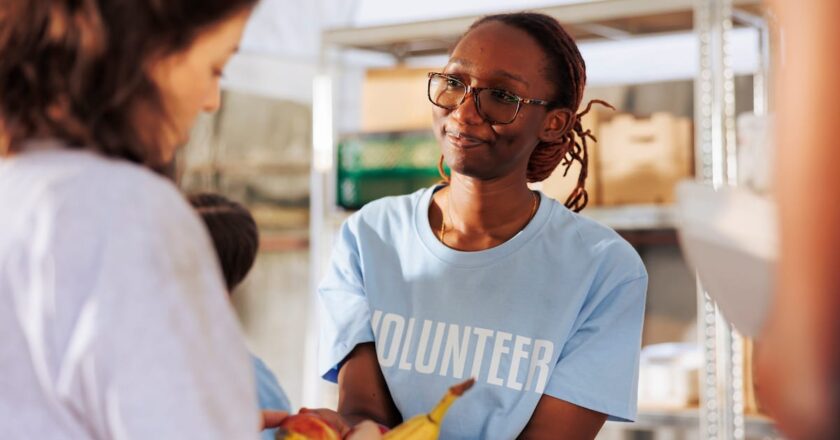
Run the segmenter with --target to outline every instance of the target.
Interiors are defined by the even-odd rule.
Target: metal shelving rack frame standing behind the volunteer
[[[761,0],[592,0],[536,9],[556,17],[578,40],[632,38],[666,32],[694,31],[699,39],[700,71],[695,78],[695,158],[698,180],[715,186],[734,184],[735,87],[730,68],[729,35],[735,26],[760,32],[761,66],[754,76],[754,107],[767,111],[770,76],[769,41]],[[334,29],[322,35],[321,70],[314,83],[313,169],[311,177],[311,280],[315,286],[328,261],[335,231],[348,215],[335,203],[335,79],[341,74],[340,54],[363,50],[402,61],[444,54],[479,16],[367,28]],[[596,208],[589,215],[617,229],[667,229],[675,225],[673,210],[662,206]],[[640,426],[697,426],[701,438],[738,440],[751,435],[777,437],[772,422],[746,417],[742,391],[743,347],[732,327],[698,283],[698,326],[704,349],[701,408],[679,413],[640,414]],[[314,299],[313,299],[314,301]],[[317,310],[317,308],[313,308]],[[314,318],[317,318],[315,316]],[[312,319],[312,330],[317,319]],[[313,333],[310,332],[310,333]],[[316,347],[317,344],[309,344]],[[314,371],[316,353],[308,356]],[[313,379],[304,384],[304,405],[321,404],[323,388]]]

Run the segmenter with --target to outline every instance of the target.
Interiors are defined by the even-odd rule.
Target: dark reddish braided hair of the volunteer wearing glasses
[[[571,129],[563,135],[560,142],[537,145],[528,160],[527,178],[528,182],[543,181],[554,172],[558,165],[565,167],[563,172],[565,176],[574,162],[580,163],[577,185],[565,202],[567,208],[579,212],[589,202],[589,194],[585,188],[586,177],[589,174],[589,153],[586,140],[589,138],[597,142],[590,130],[583,129],[581,118],[589,112],[593,103],[613,107],[604,101],[593,100],[584,111],[577,113],[583,100],[583,89],[586,86],[586,63],[574,39],[557,20],[534,12],[488,15],[473,23],[464,35],[491,21],[498,21],[526,32],[547,55],[546,74],[548,80],[555,84],[556,88],[549,109],[568,109],[574,116],[574,121],[572,121]],[[449,177],[443,170],[443,156],[438,163],[438,170],[444,180],[449,181]]]

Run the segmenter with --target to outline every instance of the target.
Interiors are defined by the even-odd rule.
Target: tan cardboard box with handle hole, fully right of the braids
[[[603,123],[599,134],[599,200],[605,205],[673,203],[677,182],[693,175],[688,118],[624,114]]]

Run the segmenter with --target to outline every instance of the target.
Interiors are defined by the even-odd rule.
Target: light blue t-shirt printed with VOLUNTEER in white
[[[453,250],[429,226],[435,189],[370,203],[342,225],[319,288],[324,378],[375,342],[408,419],[475,377],[444,439],[515,438],[543,394],[633,420],[647,289],[636,251],[542,194],[507,242]]]

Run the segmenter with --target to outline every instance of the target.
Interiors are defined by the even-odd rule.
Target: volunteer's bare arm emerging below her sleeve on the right
[[[525,440],[593,439],[607,415],[543,394],[531,420],[519,434]]]

